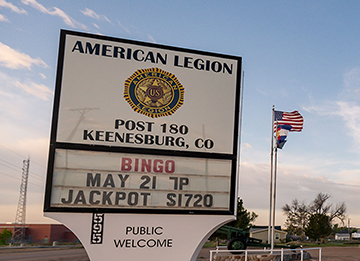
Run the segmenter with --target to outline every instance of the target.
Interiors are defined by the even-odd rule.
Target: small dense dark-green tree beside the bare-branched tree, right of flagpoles
[[[305,234],[314,240],[323,240],[331,234],[330,218],[326,214],[315,213],[309,218],[309,224],[305,228]]]

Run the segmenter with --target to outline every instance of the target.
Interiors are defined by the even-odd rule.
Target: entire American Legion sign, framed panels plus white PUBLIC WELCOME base
[[[91,260],[195,260],[236,215],[240,97],[241,57],[61,30],[45,216]]]

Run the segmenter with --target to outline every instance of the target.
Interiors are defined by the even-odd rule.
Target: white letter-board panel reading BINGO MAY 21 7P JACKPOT
[[[229,211],[231,161],[58,149],[51,207]]]

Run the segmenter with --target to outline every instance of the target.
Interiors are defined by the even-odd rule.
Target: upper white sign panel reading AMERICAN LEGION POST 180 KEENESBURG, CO
[[[64,44],[57,142],[234,153],[238,60],[94,36]]]

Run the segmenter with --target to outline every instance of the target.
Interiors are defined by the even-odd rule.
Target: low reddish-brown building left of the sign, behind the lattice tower
[[[14,224],[0,224],[0,233],[4,230],[14,232]],[[64,225],[25,224],[25,241],[28,244],[78,243],[78,238]]]

